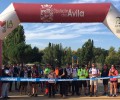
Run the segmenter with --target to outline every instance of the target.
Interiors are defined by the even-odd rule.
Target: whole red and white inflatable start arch
[[[82,3],[82,4],[12,3],[0,14],[0,71],[2,66],[2,40],[21,22],[30,23],[102,22],[118,38],[120,38],[120,12],[111,3]]]

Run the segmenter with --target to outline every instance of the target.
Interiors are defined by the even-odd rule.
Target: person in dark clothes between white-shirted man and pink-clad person
[[[107,65],[104,65],[101,72],[101,77],[108,77],[109,69]],[[103,95],[108,96],[108,79],[103,79],[104,93]]]

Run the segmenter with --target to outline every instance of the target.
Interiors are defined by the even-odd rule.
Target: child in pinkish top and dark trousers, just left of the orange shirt
[[[55,79],[56,78],[56,74],[54,72],[54,68],[51,69],[50,73],[48,74],[48,78],[49,79]],[[51,97],[51,92],[52,92],[52,96],[55,96],[55,81],[48,81],[48,87],[49,87],[49,97]]]

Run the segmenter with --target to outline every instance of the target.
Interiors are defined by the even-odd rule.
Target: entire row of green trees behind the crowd
[[[120,65],[120,48],[115,51],[114,47],[109,50],[96,48],[94,42],[88,39],[77,51],[71,47],[62,47],[62,44],[49,43],[43,50],[25,43],[23,26],[19,25],[3,41],[3,64],[4,63],[49,63],[53,66],[62,66],[72,63],[72,57],[79,60],[79,64],[90,65],[92,62],[103,64]],[[77,63],[77,59],[74,60]]]

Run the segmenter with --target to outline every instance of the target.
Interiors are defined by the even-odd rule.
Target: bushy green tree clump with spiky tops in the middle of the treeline
[[[63,59],[63,48],[61,44],[48,44],[44,49],[43,62],[53,66],[61,66]]]

